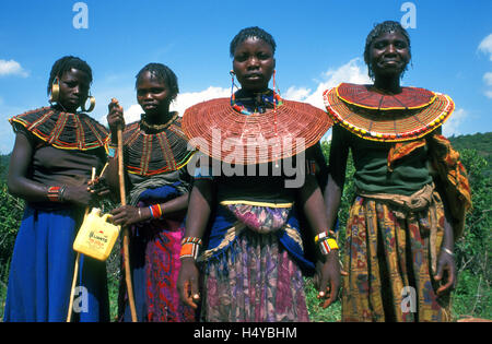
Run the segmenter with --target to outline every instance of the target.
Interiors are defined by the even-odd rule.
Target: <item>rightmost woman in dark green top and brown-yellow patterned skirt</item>
[[[343,321],[449,320],[453,247],[470,193],[465,169],[441,135],[454,103],[400,85],[410,58],[407,31],[397,22],[378,24],[364,51],[374,84],[342,83],[324,94],[336,121],[325,192],[329,225],[340,205],[349,150],[355,165]]]

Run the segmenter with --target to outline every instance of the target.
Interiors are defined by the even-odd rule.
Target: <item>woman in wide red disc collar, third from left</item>
[[[314,264],[306,259],[303,238],[313,240],[326,229],[323,195],[315,168],[297,186],[288,186],[283,170],[273,170],[290,165],[290,158],[301,174],[305,161],[326,167],[323,154],[320,162],[311,153],[331,120],[269,88],[274,50],[263,29],[242,29],[230,50],[242,88],[231,98],[195,105],[183,118],[184,131],[204,158],[190,193],[178,288],[194,307],[202,296],[201,319],[209,322],[308,321],[303,272],[312,272]],[[288,137],[301,139],[305,149],[289,152],[279,144]],[[314,234],[300,226],[296,212],[304,213]],[[337,257],[332,246],[317,266],[325,306],[338,293]]]

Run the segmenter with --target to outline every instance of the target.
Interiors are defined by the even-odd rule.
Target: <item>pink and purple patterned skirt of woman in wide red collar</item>
[[[276,225],[281,211],[262,206],[245,211],[243,205],[229,211],[243,222],[231,226],[234,238],[204,263],[202,320],[308,321],[302,270],[279,239],[289,227]]]

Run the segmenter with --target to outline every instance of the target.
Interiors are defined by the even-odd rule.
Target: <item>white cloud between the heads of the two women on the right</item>
[[[354,58],[337,69],[329,69],[321,74],[321,81],[318,81],[315,91],[291,86],[283,97],[285,99],[305,102],[320,109],[325,109],[323,93],[326,90],[338,86],[342,82],[354,84],[371,83],[371,79],[367,76],[367,68],[360,58]]]

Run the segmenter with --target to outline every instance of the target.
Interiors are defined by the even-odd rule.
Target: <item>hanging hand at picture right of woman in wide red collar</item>
[[[320,306],[329,307],[338,298],[340,289],[340,262],[338,250],[331,250],[326,260],[318,260],[314,277],[315,287],[319,290],[318,299],[325,300]]]

